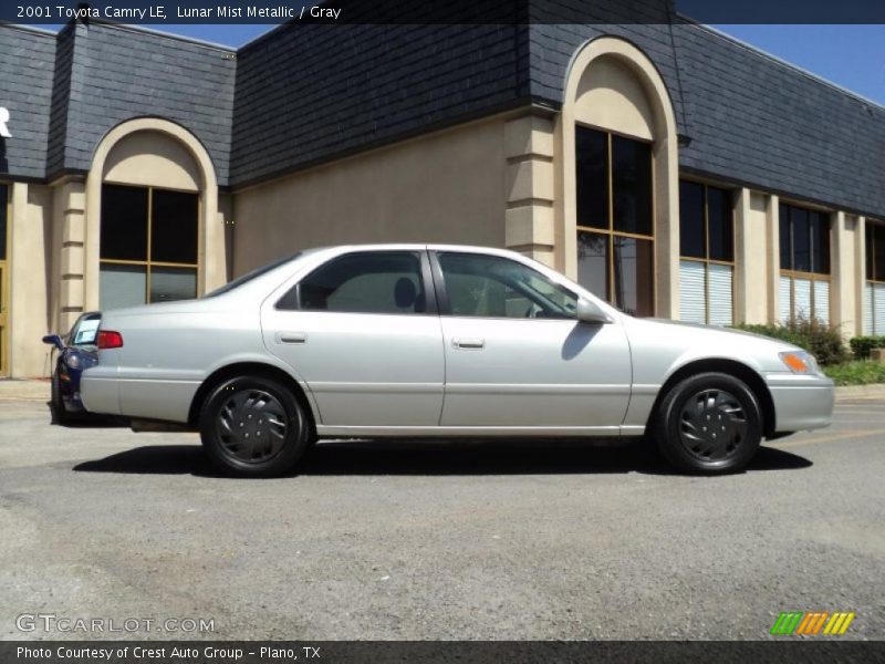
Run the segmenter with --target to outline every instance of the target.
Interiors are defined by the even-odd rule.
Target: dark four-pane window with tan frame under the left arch
[[[101,308],[197,297],[199,197],[102,187]]]

